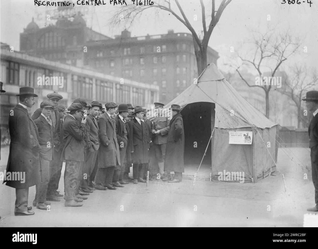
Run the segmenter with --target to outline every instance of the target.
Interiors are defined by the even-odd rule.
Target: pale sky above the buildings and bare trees
[[[154,1],[158,3],[160,0]],[[295,0],[297,1],[297,0]],[[50,1],[52,2],[52,0]],[[58,2],[58,1],[56,1]],[[76,1],[73,1],[76,6]],[[80,1],[79,1],[80,2]],[[93,30],[105,34],[110,37],[120,35],[121,30],[125,27],[109,25],[109,19],[118,10],[117,6],[109,4],[110,0],[104,0],[106,5],[102,6],[84,6],[88,10],[85,16],[86,23]],[[131,0],[126,0],[127,4],[132,4]],[[173,2],[173,1],[172,1]],[[264,31],[266,27],[275,26],[278,32],[283,32],[290,28],[295,36],[303,38],[303,43],[297,51],[298,53],[288,59],[283,67],[293,64],[307,65],[308,69],[318,68],[318,2],[311,4],[307,0],[300,1],[300,4],[283,3],[284,0],[232,0],[225,8],[217,26],[214,28],[210,37],[209,46],[218,51],[220,58],[218,59],[218,67],[227,70],[225,66],[229,62],[229,57],[232,55],[230,48],[237,48],[239,44],[244,44],[250,40],[250,29]],[[216,9],[221,0],[216,1]],[[200,1],[180,0],[184,13],[196,30],[197,34],[201,33],[202,17]],[[206,15],[211,13],[211,1],[204,0]],[[78,8],[78,7],[77,7]],[[83,8],[83,6],[82,6]],[[176,10],[176,5],[173,3],[172,8]],[[38,15],[45,14],[45,11],[51,9],[45,6],[35,6],[33,0],[5,0],[0,2],[0,40],[3,43],[8,43],[13,46],[16,51],[19,50],[19,34],[32,17],[35,22],[44,27],[44,20],[39,19]],[[180,14],[176,10],[177,14]],[[197,21],[193,20],[193,16],[197,15]],[[270,21],[268,19],[270,15]],[[209,20],[207,19],[207,25]],[[176,19],[169,15],[168,12],[162,10],[145,10],[140,18],[133,20],[132,26],[129,27],[131,36],[145,36],[166,34],[169,29],[177,32],[190,31]],[[307,47],[307,52],[303,51],[303,47]]]

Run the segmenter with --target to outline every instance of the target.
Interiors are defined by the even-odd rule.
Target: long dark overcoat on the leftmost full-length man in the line
[[[25,172],[25,182],[3,181],[13,188],[28,188],[41,183],[38,128],[27,109],[17,104],[9,116],[10,150],[6,172]]]

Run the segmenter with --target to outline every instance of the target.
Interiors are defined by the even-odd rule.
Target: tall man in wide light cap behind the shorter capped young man
[[[63,194],[60,194],[58,191],[59,188],[59,180],[61,178],[61,171],[63,161],[61,161],[61,140],[60,137],[60,114],[57,109],[59,102],[63,99],[63,96],[58,94],[57,92],[52,92],[46,95],[48,101],[51,102],[54,106],[54,111],[51,112],[50,119],[52,120],[53,126],[53,134],[54,134],[54,148],[53,148],[53,155],[52,161],[50,162],[50,180],[48,184],[47,190],[47,200],[51,201],[60,201],[58,197],[62,197]],[[32,120],[37,119],[41,115],[42,111],[41,108],[35,110],[33,115],[31,116]]]

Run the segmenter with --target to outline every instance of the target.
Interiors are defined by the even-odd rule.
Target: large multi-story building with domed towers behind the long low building
[[[60,18],[39,28],[32,20],[20,34],[20,50],[31,55],[98,70],[108,75],[159,86],[159,101],[167,103],[197,78],[192,35],[174,33],[131,37],[127,30],[110,38],[86,27],[82,16]],[[218,53],[208,48],[207,62]]]

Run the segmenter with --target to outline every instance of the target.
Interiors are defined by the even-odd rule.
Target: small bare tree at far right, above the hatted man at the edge
[[[301,128],[301,124],[302,127],[308,127],[309,115],[304,115],[304,101],[302,101],[301,99],[304,97],[308,90],[313,89],[317,84],[317,71],[312,70],[308,73],[306,65],[297,64],[290,69],[291,73],[287,78],[285,91],[283,92],[283,94],[290,97],[297,107],[297,128]]]

